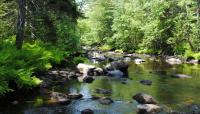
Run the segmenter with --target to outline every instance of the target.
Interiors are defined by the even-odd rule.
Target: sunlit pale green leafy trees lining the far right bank
[[[91,0],[88,4],[86,18],[79,20],[85,45],[155,54],[199,51],[198,0]]]

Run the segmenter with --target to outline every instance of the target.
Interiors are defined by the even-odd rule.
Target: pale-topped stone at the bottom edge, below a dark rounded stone
[[[137,114],[157,114],[162,108],[155,104],[141,104],[137,106]]]

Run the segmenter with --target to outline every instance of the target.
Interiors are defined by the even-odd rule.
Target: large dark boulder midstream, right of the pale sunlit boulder
[[[128,77],[128,63],[124,61],[114,61],[108,64],[105,69],[107,71],[119,70],[123,73],[124,77]]]

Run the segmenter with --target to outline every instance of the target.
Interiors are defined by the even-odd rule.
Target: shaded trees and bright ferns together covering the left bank
[[[75,0],[1,0],[0,95],[38,86],[36,72],[77,51],[80,15]]]

